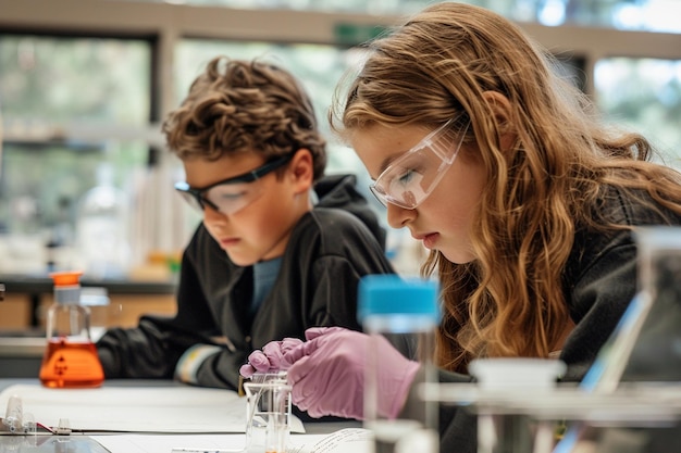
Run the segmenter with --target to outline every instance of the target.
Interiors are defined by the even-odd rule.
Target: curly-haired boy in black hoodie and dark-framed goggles
[[[163,124],[176,189],[203,213],[184,251],[177,313],[98,342],[107,378],[238,388],[256,349],[313,326],[359,330],[357,284],[393,273],[355,177],[322,178],[325,140],[296,79],[261,61],[212,60]]]

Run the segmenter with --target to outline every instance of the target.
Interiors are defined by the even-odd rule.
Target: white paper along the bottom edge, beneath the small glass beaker
[[[245,435],[113,435],[90,436],[111,453],[171,453],[173,449],[197,452],[243,451]],[[330,435],[292,435],[287,453],[370,453],[370,432],[345,428]]]

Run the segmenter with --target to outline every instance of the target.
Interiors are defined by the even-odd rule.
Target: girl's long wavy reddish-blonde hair
[[[599,125],[552,55],[485,9],[431,5],[367,50],[359,74],[336,91],[332,128],[348,138],[374,124],[435,128],[466,115],[465,140],[478,151],[469,158],[486,172],[470,232],[475,261],[433,251],[422,268],[437,272],[443,289],[436,362],[466,372],[479,356],[548,356],[571,323],[561,278],[575,231],[621,228],[598,214],[606,188],[644,189],[681,213],[679,174],[647,162],[645,138]],[[508,99],[503,124],[486,91]],[[508,131],[515,146],[502,150]]]

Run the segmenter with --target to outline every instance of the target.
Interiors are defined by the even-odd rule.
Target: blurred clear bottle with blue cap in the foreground
[[[387,339],[401,351],[410,351],[408,358],[421,364],[419,380],[434,382],[434,334],[441,319],[438,285],[434,280],[403,278],[397,275],[369,275],[359,282],[358,317],[366,334],[372,337],[374,348],[368,351],[364,382],[364,427],[374,436],[375,453],[433,453],[438,450],[437,405],[419,401],[409,414],[418,418],[386,415],[380,410],[380,398],[386,398],[380,386],[381,369],[391,368],[382,361],[377,342]],[[382,339],[383,338],[383,339]],[[382,397],[383,395],[383,397]],[[410,399],[411,400],[411,399]]]

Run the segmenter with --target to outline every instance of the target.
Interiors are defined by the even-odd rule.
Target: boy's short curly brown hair
[[[287,71],[259,60],[211,60],[162,131],[183,161],[244,151],[270,161],[305,148],[315,180],[326,166],[326,141],[305,89]]]

